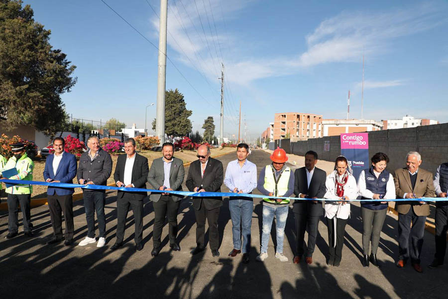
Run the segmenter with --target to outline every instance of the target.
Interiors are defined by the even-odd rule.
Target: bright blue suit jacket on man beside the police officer
[[[54,154],[50,154],[45,160],[45,169],[43,172],[44,180],[51,178],[52,180],[61,181],[61,183],[73,184],[73,178],[76,176],[77,162],[74,154],[70,152],[64,152],[62,154],[61,161],[59,162],[56,175],[53,170],[53,158]],[[48,186],[48,195],[69,195],[75,192],[74,188],[60,188]]]

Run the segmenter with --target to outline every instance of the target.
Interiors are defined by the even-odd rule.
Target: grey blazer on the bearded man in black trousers
[[[165,180],[165,171],[163,168],[163,157],[154,159],[151,164],[151,168],[148,173],[148,183],[154,189],[159,189],[163,186]],[[182,183],[184,182],[185,170],[184,163],[181,159],[173,157],[173,161],[170,166],[170,187],[175,191],[182,191]],[[149,199],[154,202],[159,201],[161,193],[151,193]],[[179,201],[183,198],[181,195],[172,195],[171,198],[174,201]]]

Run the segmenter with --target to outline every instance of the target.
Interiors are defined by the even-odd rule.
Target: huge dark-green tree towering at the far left
[[[53,135],[65,126],[60,95],[75,85],[76,66],[52,48],[50,30],[33,14],[21,0],[0,0],[0,121]]]

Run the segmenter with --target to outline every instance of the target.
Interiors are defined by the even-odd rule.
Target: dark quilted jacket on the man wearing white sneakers
[[[107,185],[111,173],[111,155],[103,149],[100,149],[93,161],[90,158],[89,151],[86,151],[81,155],[76,177],[78,178],[78,181],[80,179],[85,179],[86,183],[92,181],[95,185]]]

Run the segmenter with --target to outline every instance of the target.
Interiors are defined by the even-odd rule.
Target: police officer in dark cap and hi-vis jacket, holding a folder
[[[16,143],[11,145],[13,156],[9,158],[4,166],[3,170],[11,168],[17,169],[17,174],[9,177],[9,179],[17,180],[32,180],[34,162],[28,157],[25,152],[25,146],[22,143]],[[8,194],[8,231],[6,239],[11,239],[17,236],[18,232],[18,204],[20,203],[20,209],[23,215],[23,231],[25,236],[32,237],[34,235],[32,228],[33,225],[30,222],[30,202],[31,192],[33,191],[32,185],[17,184],[15,186],[7,187],[6,193]]]

